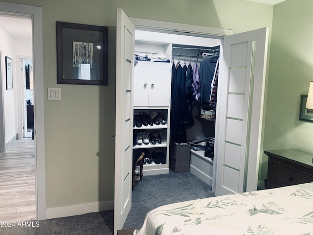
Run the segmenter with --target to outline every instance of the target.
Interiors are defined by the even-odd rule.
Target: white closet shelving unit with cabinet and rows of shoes
[[[147,46],[151,48],[150,43]],[[170,48],[168,46],[165,49]],[[145,46],[140,43],[135,47],[138,47],[138,51],[144,51],[141,47]],[[159,45],[153,48],[161,49]],[[160,52],[162,52],[162,49]],[[171,54],[170,52],[169,55]],[[165,164],[156,164],[154,162],[144,164],[144,175],[168,174],[172,64],[142,62],[139,61],[134,69],[133,149],[137,149],[137,151],[138,149],[140,151],[146,149],[150,153],[153,151],[162,152],[166,158]],[[145,142],[149,143],[145,144]]]

